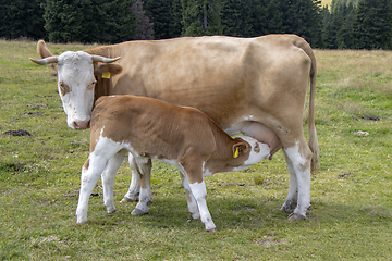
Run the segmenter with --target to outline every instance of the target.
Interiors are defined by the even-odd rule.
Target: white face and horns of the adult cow
[[[66,123],[73,129],[84,129],[89,127],[94,104],[94,87],[97,83],[94,64],[111,63],[119,59],[90,55],[84,51],[65,51],[59,57],[30,60],[40,65],[57,65],[53,67],[58,73],[58,89],[66,114]]]

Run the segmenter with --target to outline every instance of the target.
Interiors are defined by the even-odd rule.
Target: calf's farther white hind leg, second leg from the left
[[[126,151],[121,150],[115,153],[109,161],[101,174],[102,188],[103,188],[103,204],[107,208],[108,213],[113,213],[115,211],[114,198],[113,198],[113,187],[115,173],[119,170],[121,163],[124,160]]]

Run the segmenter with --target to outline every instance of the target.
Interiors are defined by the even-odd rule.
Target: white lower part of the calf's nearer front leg
[[[213,224],[211,214],[209,213],[207,208],[207,202],[206,202],[207,189],[205,182],[189,184],[189,187],[193,196],[196,199],[200,212],[201,222],[203,224],[205,224],[206,231],[208,232],[216,231],[217,227]]]

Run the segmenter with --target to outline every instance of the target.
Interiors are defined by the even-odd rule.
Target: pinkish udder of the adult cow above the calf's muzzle
[[[277,134],[261,123],[246,122],[241,128],[241,133],[250,136],[260,142],[267,144],[271,151],[269,157],[270,160],[272,159],[272,156],[282,148],[282,142]]]

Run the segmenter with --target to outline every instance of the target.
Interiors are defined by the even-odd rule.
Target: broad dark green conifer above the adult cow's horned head
[[[54,42],[109,42],[132,39],[133,0],[46,0],[45,28]]]

